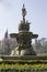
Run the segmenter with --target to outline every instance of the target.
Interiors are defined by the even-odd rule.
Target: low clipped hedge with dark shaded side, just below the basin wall
[[[39,64],[47,63],[47,60],[0,60],[0,64]]]

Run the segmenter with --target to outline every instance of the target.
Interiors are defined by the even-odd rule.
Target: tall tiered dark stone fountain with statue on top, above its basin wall
[[[11,38],[16,38],[17,45],[13,50],[12,55],[36,55],[32,47],[32,39],[37,38],[37,34],[30,32],[30,22],[25,20],[26,9],[23,4],[22,17],[23,20],[19,24],[19,33],[11,33]]]

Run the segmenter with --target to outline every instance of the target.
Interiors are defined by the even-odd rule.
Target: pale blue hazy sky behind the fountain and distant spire
[[[19,32],[22,20],[22,7],[25,4],[31,22],[30,31],[38,34],[38,39],[47,38],[47,0],[0,0],[0,40],[8,29],[10,33]]]

